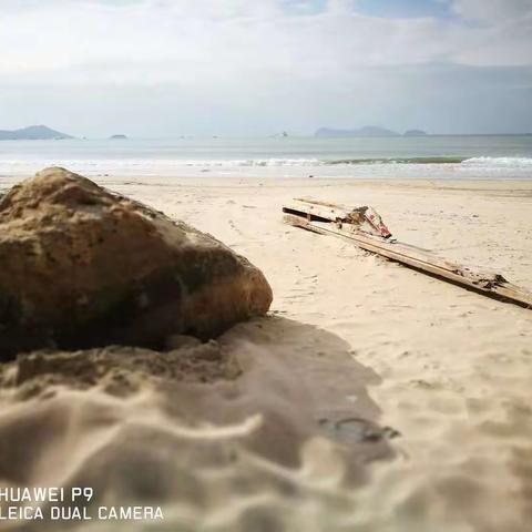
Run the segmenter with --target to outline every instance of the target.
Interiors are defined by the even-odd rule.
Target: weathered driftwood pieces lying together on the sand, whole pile
[[[371,207],[349,209],[313,200],[294,200],[283,207],[285,223],[324,235],[347,238],[368,252],[478,293],[532,308],[532,293],[509,283],[502,275],[475,272],[441,258],[429,249],[391,239]]]

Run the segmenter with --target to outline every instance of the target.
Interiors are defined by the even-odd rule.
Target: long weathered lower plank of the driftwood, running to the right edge
[[[508,283],[501,275],[489,272],[472,272],[468,267],[446,260],[438,255],[408,244],[390,242],[357,231],[346,231],[332,223],[308,221],[301,216],[286,214],[285,222],[324,235],[347,238],[362,249],[381,255],[390,260],[429,273],[437,277],[466,286],[484,295],[513,301],[532,308],[532,293]]]

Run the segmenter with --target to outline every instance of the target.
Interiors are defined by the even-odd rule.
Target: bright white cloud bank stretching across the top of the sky
[[[456,0],[454,10],[464,17],[490,13],[502,20],[500,13],[507,13],[504,23],[482,28],[431,18],[364,17],[346,0],[297,14],[274,0],[27,0],[17,10],[4,0],[0,6],[0,74],[33,73],[57,82],[186,82],[255,70],[306,78],[367,65],[532,62],[531,20],[522,18],[530,11],[526,0]]]

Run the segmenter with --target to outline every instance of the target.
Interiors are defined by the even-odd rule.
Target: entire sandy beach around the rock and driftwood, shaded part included
[[[211,361],[208,382],[106,361],[88,386],[47,382],[43,400],[30,371],[1,393],[0,470],[91,482],[105,501],[157,487],[153,530],[530,530],[532,311],[285,226],[280,205],[370,204],[399,239],[532,288],[532,183],[96,181],[247,256],[272,313],[218,339],[236,362]]]

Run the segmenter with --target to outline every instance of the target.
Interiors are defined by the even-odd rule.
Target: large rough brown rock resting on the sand
[[[157,348],[265,314],[272,289],[224,244],[63,168],[0,200],[0,354]]]

